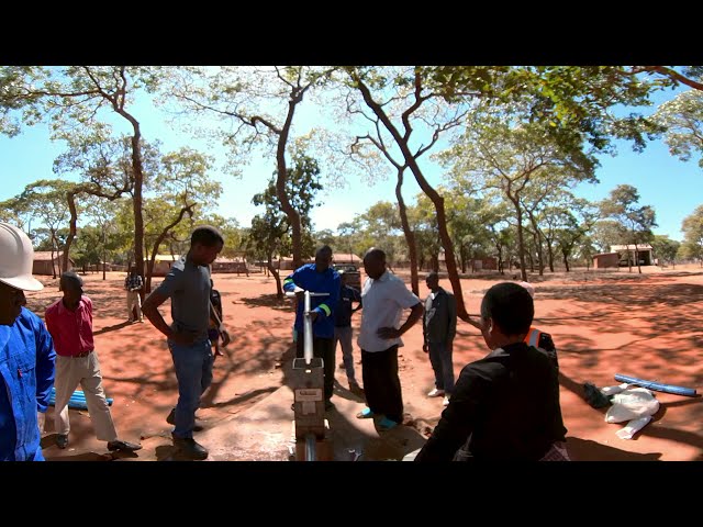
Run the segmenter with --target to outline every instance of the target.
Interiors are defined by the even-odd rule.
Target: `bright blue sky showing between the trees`
[[[656,101],[661,102],[672,97],[673,92],[669,91],[658,94]],[[320,122],[320,115],[312,105],[301,110],[295,116],[295,130],[303,134]],[[144,137],[147,141],[160,139],[164,152],[186,145],[203,150],[207,148],[204,142],[180,132],[177,125],[165,124],[159,111],[146,101],[134,108],[134,114],[142,123]],[[121,121],[118,123],[123,126]],[[123,130],[127,131],[126,127]],[[13,138],[0,136],[0,201],[20,193],[32,181],[55,178],[52,165],[63,150],[62,144],[53,144],[48,139],[45,125],[24,128],[21,135]],[[223,158],[221,149],[211,152]],[[634,153],[627,143],[618,143],[616,157],[602,156],[600,160],[601,167],[596,170],[600,183],[581,184],[577,189],[579,195],[600,200],[617,184],[632,184],[640,193],[639,203],[651,205],[656,210],[659,226],[655,228],[655,233],[667,234],[674,239],[682,238],[681,221],[703,202],[703,171],[698,167],[696,160],[683,162],[671,157],[661,139],[650,142],[641,154]],[[423,159],[421,166],[432,184],[442,182],[442,169],[431,164],[428,158]],[[234,216],[242,226],[248,226],[252,216],[257,213],[257,208],[252,204],[252,197],[264,190],[274,169],[274,159],[259,156],[243,168],[241,179],[213,170],[212,176],[224,186],[217,212],[224,216]],[[375,184],[347,180],[344,189],[323,191],[323,204],[312,213],[316,229],[335,229],[341,222],[352,221],[356,214],[362,213],[379,200],[394,202],[394,177],[391,177]],[[419,192],[420,188],[409,173],[403,187],[405,200],[411,201]]]

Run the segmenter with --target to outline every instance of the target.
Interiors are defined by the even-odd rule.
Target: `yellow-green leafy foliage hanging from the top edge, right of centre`
[[[647,106],[648,94],[661,87],[631,75],[623,66],[442,66],[424,68],[435,91],[448,101],[480,97],[487,103],[525,108],[529,123],[546,124],[547,135],[577,147],[588,142],[610,150],[613,137],[645,147],[646,136],[660,128],[650,120],[620,116],[618,105]]]

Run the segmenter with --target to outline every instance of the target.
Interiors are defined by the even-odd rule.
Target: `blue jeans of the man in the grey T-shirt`
[[[178,379],[178,404],[176,405],[176,429],[174,436],[192,438],[196,411],[200,407],[200,395],[212,382],[212,349],[207,338],[190,346],[168,340]]]

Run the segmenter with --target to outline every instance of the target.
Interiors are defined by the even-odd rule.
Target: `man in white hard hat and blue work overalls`
[[[42,319],[24,307],[34,249],[18,227],[0,222],[0,461],[43,461],[37,412],[45,413],[56,354]]]

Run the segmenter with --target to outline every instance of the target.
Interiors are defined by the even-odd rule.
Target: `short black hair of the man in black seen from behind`
[[[493,318],[505,335],[526,334],[534,316],[529,292],[513,282],[496,283],[481,301],[481,318]]]

